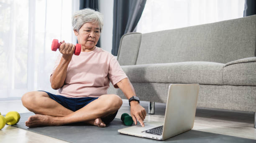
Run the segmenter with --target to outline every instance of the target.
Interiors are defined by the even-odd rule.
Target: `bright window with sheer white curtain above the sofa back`
[[[244,0],[147,0],[137,32],[148,33],[243,17]]]

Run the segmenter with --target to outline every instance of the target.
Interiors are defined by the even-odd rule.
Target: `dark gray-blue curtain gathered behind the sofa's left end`
[[[114,0],[112,54],[117,55],[121,37],[135,32],[146,0]]]

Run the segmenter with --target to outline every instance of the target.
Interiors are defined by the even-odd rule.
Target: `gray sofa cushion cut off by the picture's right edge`
[[[256,57],[225,64],[223,82],[225,85],[256,86]]]

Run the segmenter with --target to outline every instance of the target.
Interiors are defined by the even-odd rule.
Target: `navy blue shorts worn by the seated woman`
[[[77,111],[80,108],[83,108],[84,106],[89,104],[90,102],[98,99],[98,97],[69,98],[69,97],[65,97],[65,96],[61,96],[61,95],[51,94],[51,93],[49,93],[47,91],[44,91],[44,92],[46,92],[51,99],[53,99],[54,101],[58,102],[59,104],[61,104],[65,108],[68,108],[71,111]],[[114,120],[117,112],[118,111],[116,111],[112,115],[108,115],[106,117],[103,117],[103,118],[101,118],[101,120],[105,124],[109,124],[111,121]]]

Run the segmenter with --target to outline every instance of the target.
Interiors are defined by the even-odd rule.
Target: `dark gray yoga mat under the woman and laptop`
[[[123,125],[122,121],[118,118],[115,118],[105,128],[86,126],[79,123],[66,126],[28,128],[25,126],[25,121],[27,121],[28,117],[31,115],[34,115],[34,113],[20,113],[20,121],[14,126],[71,143],[256,143],[256,140],[247,138],[195,130],[187,131],[165,141],[139,138],[118,133],[118,129],[127,127]]]

